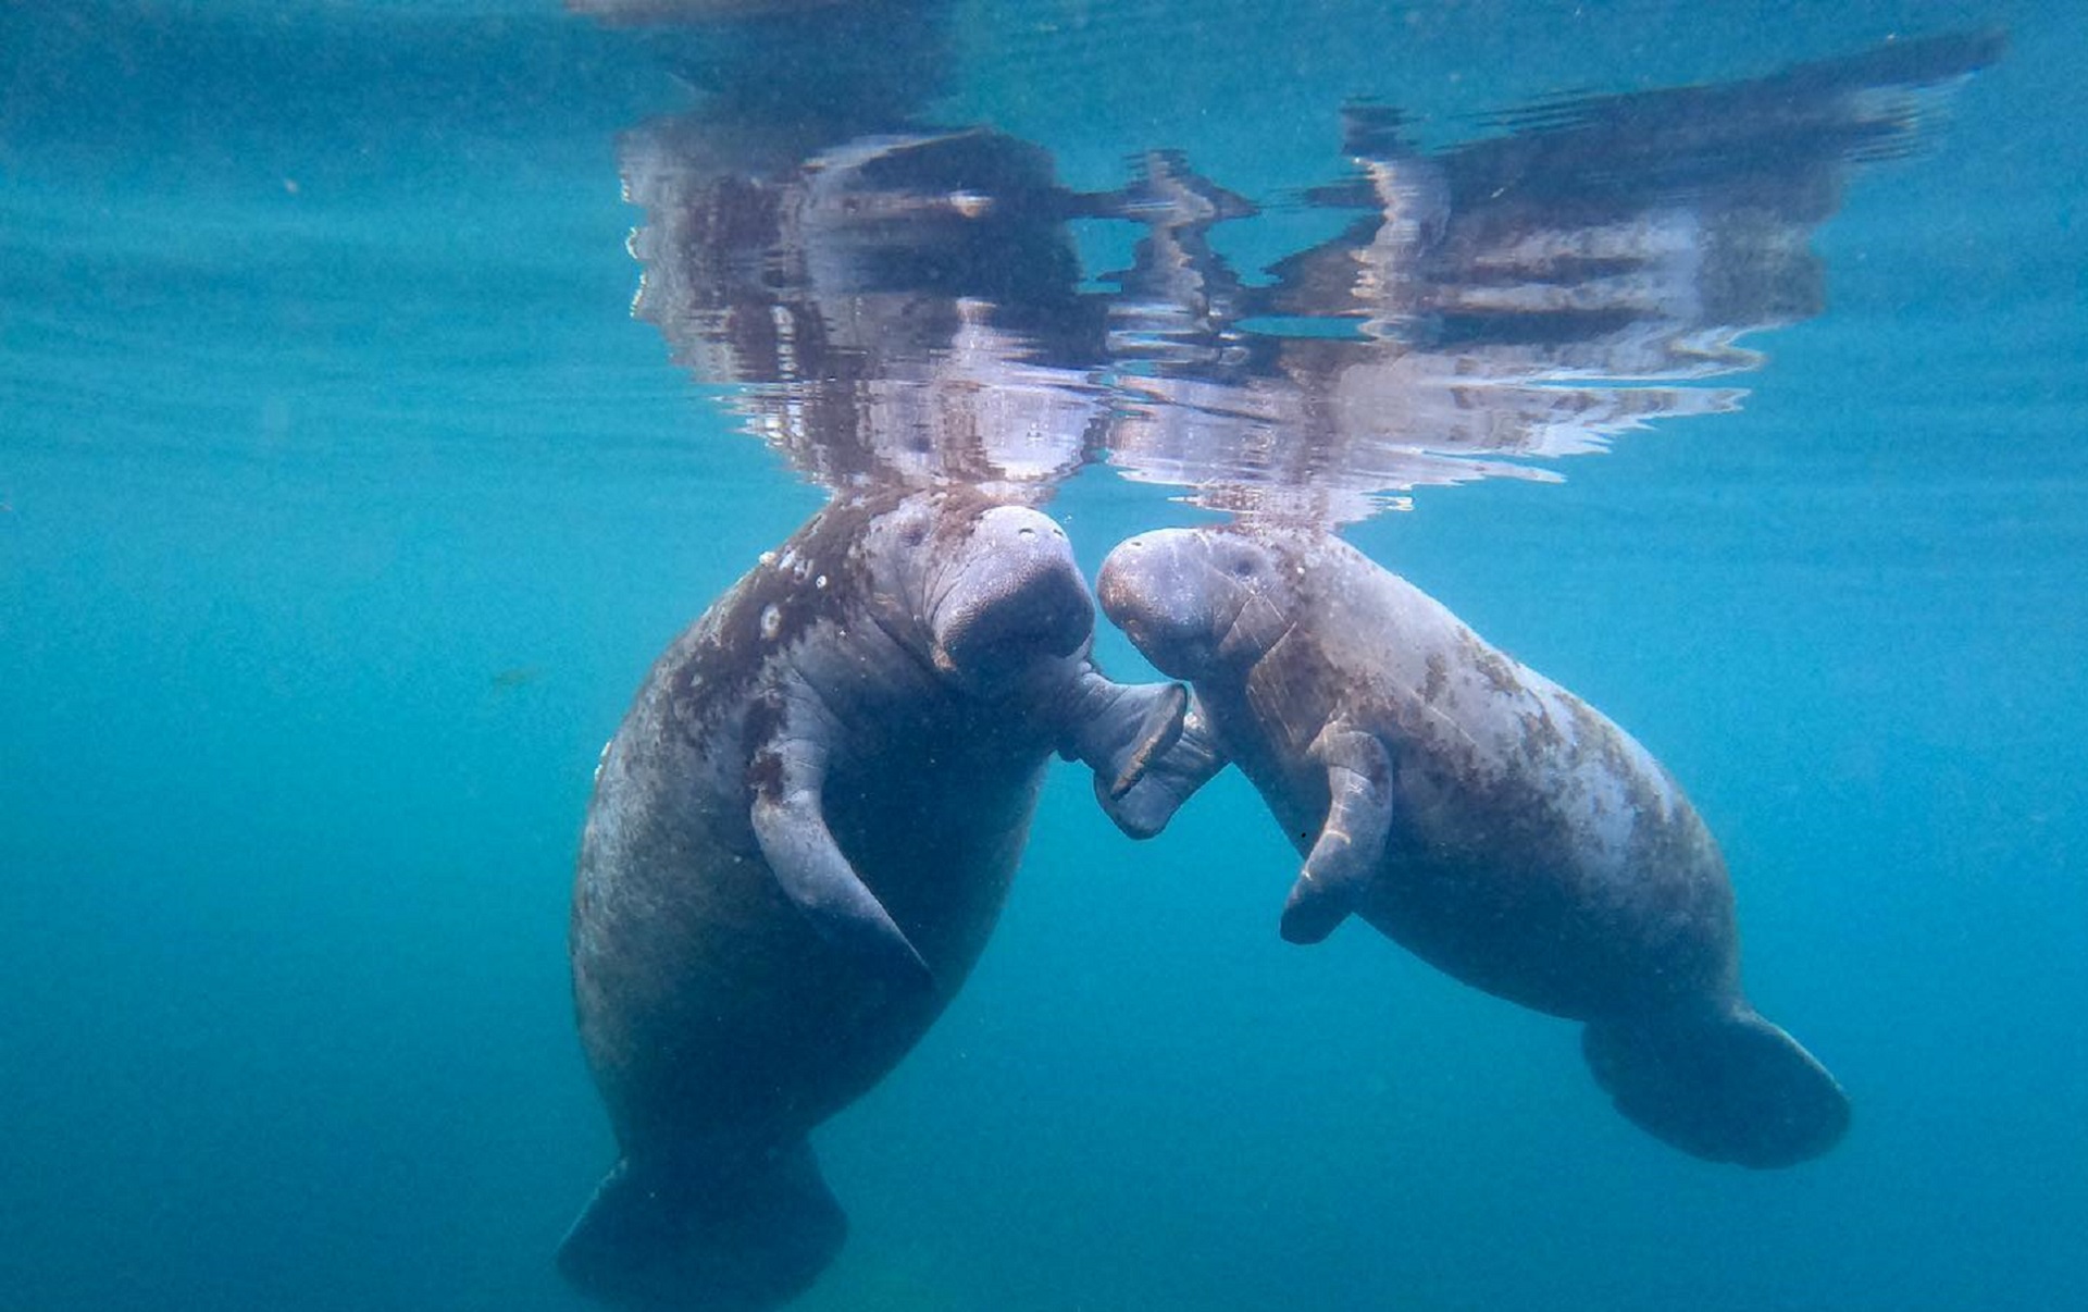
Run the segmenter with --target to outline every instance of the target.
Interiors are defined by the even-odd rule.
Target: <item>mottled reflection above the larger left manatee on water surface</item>
[[[1090,460],[1102,313],[1075,292],[1082,201],[1038,146],[685,115],[618,157],[645,213],[633,313],[804,476],[1036,503]]]

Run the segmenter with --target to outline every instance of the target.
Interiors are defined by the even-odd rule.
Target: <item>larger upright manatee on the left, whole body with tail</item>
[[[572,900],[622,1157],[560,1251],[635,1308],[768,1308],[839,1249],[806,1132],[921,1038],[994,928],[1052,752],[1121,794],[1186,689],[1088,662],[1063,531],[973,491],[839,499],[658,660]]]

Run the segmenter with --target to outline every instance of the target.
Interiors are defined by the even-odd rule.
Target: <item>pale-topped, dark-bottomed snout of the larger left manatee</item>
[[[1094,635],[1094,602],[1065,531],[1025,506],[979,516],[931,606],[935,669],[973,685],[1065,658]]]

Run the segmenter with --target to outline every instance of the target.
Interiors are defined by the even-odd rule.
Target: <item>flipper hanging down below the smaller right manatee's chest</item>
[[[1363,905],[1393,827],[1393,758],[1374,733],[1334,721],[1313,740],[1309,756],[1326,767],[1330,802],[1284,903],[1288,942],[1320,942]]]

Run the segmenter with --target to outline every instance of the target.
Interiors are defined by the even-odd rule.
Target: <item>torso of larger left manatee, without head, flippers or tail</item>
[[[1054,733],[952,689],[915,625],[869,618],[883,547],[871,526],[892,514],[821,512],[660,656],[603,752],[572,971],[620,1141],[733,1153],[750,1134],[808,1130],[912,1047],[1000,913]],[[963,520],[923,516],[908,549],[950,549]],[[752,800],[777,788],[768,744],[808,685],[848,704],[829,823],[929,963],[927,988],[827,944],[756,844]],[[952,809],[958,779],[975,786]]]

